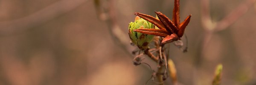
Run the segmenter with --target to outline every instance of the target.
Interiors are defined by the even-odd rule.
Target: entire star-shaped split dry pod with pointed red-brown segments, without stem
[[[173,42],[180,40],[180,37],[183,36],[186,26],[189,24],[191,14],[182,22],[180,23],[180,0],[174,1],[174,8],[173,8],[173,17],[170,20],[166,15],[162,14],[161,12],[155,11],[157,14],[157,18],[154,18],[150,15],[135,13],[135,15],[147,20],[148,22],[154,24],[159,29],[147,29],[147,28],[140,28],[134,31],[143,33],[143,34],[151,34],[157,35],[160,37],[165,37],[162,40],[162,44]]]

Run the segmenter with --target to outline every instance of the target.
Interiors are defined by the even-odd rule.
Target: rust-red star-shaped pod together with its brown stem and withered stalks
[[[167,79],[167,70],[168,68],[172,68],[173,70],[169,69],[169,74],[170,77],[172,77],[172,82],[174,85],[177,85],[177,77],[176,77],[176,73],[175,73],[175,65],[168,65],[167,63],[173,63],[173,62],[168,62],[168,61],[172,61],[172,59],[169,59],[169,55],[167,53],[169,53],[168,49],[166,48],[165,45],[167,43],[170,42],[175,42],[178,40],[181,40],[180,38],[183,36],[184,31],[186,26],[189,24],[190,21],[190,17],[191,14],[182,22],[180,23],[180,0],[175,0],[174,1],[174,8],[173,8],[173,17],[172,20],[170,20],[168,17],[166,17],[166,15],[162,14],[161,12],[157,12],[155,11],[155,13],[157,14],[158,18],[154,18],[152,16],[146,15],[146,14],[141,14],[141,13],[135,13],[135,15],[147,20],[148,22],[154,24],[154,26],[156,26],[155,28],[139,28],[139,29],[135,29],[133,31],[136,32],[140,32],[143,34],[150,34],[150,35],[156,35],[159,37],[154,37],[154,45],[152,49],[148,48],[140,48],[140,50],[144,51],[144,54],[147,55],[148,57],[150,57],[151,59],[153,59],[155,62],[157,62],[157,72],[152,74],[152,79],[154,81],[154,77],[158,78],[157,83],[159,83],[160,85],[163,85],[163,81]],[[156,29],[159,28],[159,29]],[[133,40],[131,38],[131,31],[129,30],[129,36],[130,39]],[[139,38],[142,38],[145,36],[140,36]],[[164,37],[164,38],[162,38]],[[182,42],[182,41],[180,41]],[[147,45],[148,42],[145,42],[146,44],[143,43],[143,45]],[[180,44],[175,44],[177,47],[181,48],[182,47],[182,43]],[[165,50],[168,50],[167,52],[165,52]],[[153,54],[153,52],[156,52],[155,54]],[[186,52],[186,49],[183,50],[184,52]],[[133,52],[134,53],[134,52]],[[140,52],[138,54],[138,56],[136,56],[134,58],[134,65],[140,65],[142,62],[142,58],[141,58]],[[168,60],[168,61],[167,61]],[[145,62],[144,62],[145,63]],[[148,64],[146,64],[148,65]],[[149,67],[151,67],[149,65]],[[153,71],[154,72],[154,71]]]

